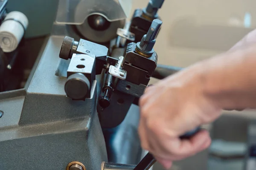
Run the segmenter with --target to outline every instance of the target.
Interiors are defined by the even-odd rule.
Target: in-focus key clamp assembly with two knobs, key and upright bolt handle
[[[76,42],[73,38],[65,37],[60,57],[68,59],[72,56],[65,84],[67,96],[82,100],[90,97],[89,87],[96,78],[95,73],[100,74],[103,68],[106,70],[103,94],[98,106],[102,127],[110,128],[119,125],[135,97],[139,98],[143,94],[157,67],[157,53],[153,47],[161,24],[162,21],[153,20],[148,33],[141,41],[129,43],[124,54],[120,54],[118,58],[108,57],[108,49],[103,45],[83,39]],[[94,49],[97,50],[94,51]],[[124,102],[125,108],[120,105]],[[113,109],[118,107],[122,107],[122,111]],[[119,116],[116,117],[118,114]]]

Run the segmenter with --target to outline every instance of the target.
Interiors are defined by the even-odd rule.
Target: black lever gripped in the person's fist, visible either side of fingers
[[[180,139],[189,139],[192,136],[194,136],[198,131],[200,130],[200,127],[195,128],[194,130],[189,131],[188,133],[180,136]],[[149,170],[152,165],[156,162],[156,159],[151,153],[147,153],[146,156],[140,161],[139,164],[134,168],[134,170]]]

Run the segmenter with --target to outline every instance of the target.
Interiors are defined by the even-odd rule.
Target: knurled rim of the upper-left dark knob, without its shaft
[[[59,57],[62,59],[69,59],[72,56],[70,55],[72,46],[73,46],[74,39],[71,37],[66,36],[61,45],[61,51]]]

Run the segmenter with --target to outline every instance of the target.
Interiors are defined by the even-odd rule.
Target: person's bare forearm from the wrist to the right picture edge
[[[200,62],[205,95],[221,108],[256,108],[256,45]]]

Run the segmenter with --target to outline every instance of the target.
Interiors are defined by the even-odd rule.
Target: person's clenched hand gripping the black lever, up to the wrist
[[[189,68],[190,69],[190,68]],[[188,70],[189,70],[188,69]],[[193,68],[191,68],[193,69]],[[201,130],[191,139],[179,136],[216,119],[221,109],[204,95],[196,71],[180,73],[149,86],[140,99],[139,134],[142,147],[164,167],[209,147],[211,139]]]

